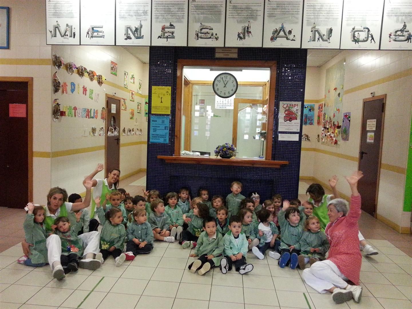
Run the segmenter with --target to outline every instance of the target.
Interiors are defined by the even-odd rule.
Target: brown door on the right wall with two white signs
[[[363,178],[358,190],[362,195],[362,210],[376,215],[381,166],[386,94],[363,99],[361,147],[359,149],[359,170]]]

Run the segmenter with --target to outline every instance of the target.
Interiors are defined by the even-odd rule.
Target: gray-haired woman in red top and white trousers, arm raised
[[[319,293],[332,293],[335,303],[347,300],[359,302],[362,287],[359,284],[362,255],[359,251],[358,220],[361,217],[361,195],[358,192],[358,180],[361,171],[345,177],[351,187],[351,203],[344,199],[332,199],[328,204],[329,223],[325,234],[330,243],[327,260],[315,262],[303,271],[303,279]],[[356,286],[349,285],[352,281]]]

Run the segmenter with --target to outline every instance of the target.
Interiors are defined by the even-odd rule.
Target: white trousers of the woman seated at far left
[[[79,238],[83,241],[84,253],[83,257],[87,253],[98,253],[100,246],[100,234],[97,231],[84,233],[79,235]],[[53,263],[56,261],[60,262],[61,255],[61,241],[59,236],[52,234],[46,239],[47,245],[47,258],[49,259],[50,267],[53,266]],[[53,267],[52,267],[53,269]]]

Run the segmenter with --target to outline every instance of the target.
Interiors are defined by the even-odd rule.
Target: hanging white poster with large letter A
[[[263,47],[300,48],[303,0],[265,0]]]

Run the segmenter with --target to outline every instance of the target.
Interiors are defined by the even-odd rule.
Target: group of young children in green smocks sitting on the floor
[[[336,185],[336,181],[332,184]],[[240,274],[252,271],[253,265],[246,261],[248,250],[263,259],[267,249],[272,248],[269,257],[279,260],[281,268],[290,265],[295,269],[299,265],[304,269],[308,262],[312,265],[325,259],[329,242],[323,230],[328,216],[327,209],[321,206],[329,196],[321,185],[309,186],[307,193],[311,199],[303,205],[298,199],[282,201],[279,194],[260,204],[259,194],[244,197],[242,184],[237,181],[232,183],[231,191],[226,199],[215,195],[211,201],[206,189],[199,190],[198,197],[191,200],[187,187],[180,188],[179,193],[169,192],[164,200],[157,190],[144,191],[144,197],[130,197],[125,190],[118,189],[107,194],[104,201],[97,197],[94,202],[102,229],[96,259],[103,262],[112,255],[119,266],[138,254],[150,253],[154,240],[178,240],[182,248],[194,248],[190,256],[198,259],[189,269],[200,275],[217,266],[223,274],[233,266]],[[26,240],[35,246],[29,257],[18,262],[42,266],[47,262],[43,222],[49,218],[41,206],[27,207]],[[72,222],[62,216],[52,225],[51,233],[61,239],[61,265],[65,273],[76,271],[82,256],[83,244],[77,235],[89,225],[87,216],[82,219],[84,211],[87,212],[84,209],[73,214]]]

